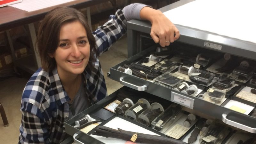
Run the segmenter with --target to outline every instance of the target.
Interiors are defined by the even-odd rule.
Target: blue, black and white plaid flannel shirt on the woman
[[[118,10],[100,26],[93,36],[100,54],[126,33],[124,14]],[[107,95],[107,88],[98,58],[95,71],[84,71],[86,96],[92,103]],[[28,80],[22,94],[22,120],[19,143],[60,143],[65,130],[62,126],[68,120],[69,97],[60,82],[57,69],[46,72],[39,68]]]

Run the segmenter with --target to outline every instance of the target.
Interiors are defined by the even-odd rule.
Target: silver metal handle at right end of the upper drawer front
[[[242,130],[245,130],[247,132],[252,132],[252,133],[256,133],[256,128],[252,128],[250,126],[247,126],[247,125],[244,125],[244,124],[240,124],[240,123],[237,123],[235,121],[232,121],[232,120],[229,120],[227,118],[227,115],[226,114],[222,114],[222,121],[225,123],[225,124],[229,124],[231,126],[234,126],[236,128],[239,128],[239,129],[242,129]],[[249,122],[250,123],[250,122]]]

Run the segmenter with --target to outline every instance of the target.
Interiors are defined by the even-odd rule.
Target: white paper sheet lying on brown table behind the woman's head
[[[32,12],[71,1],[75,0],[23,0],[21,3],[12,4],[10,6],[23,11]]]

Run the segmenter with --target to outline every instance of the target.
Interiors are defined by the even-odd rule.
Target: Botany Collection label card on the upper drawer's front
[[[188,98],[176,92],[171,93],[171,101],[191,109],[194,108],[194,99]]]

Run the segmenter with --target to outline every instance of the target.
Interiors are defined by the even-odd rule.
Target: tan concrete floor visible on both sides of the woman
[[[119,82],[111,80],[107,77],[109,68],[127,59],[127,40],[126,36],[121,38],[117,43],[113,44],[108,52],[100,56],[100,63],[104,71],[107,83],[108,94],[115,92],[121,88]],[[29,77],[10,77],[0,81],[0,102],[2,103],[9,126],[4,127],[2,118],[0,117],[0,143],[14,144],[18,142],[19,127],[21,121],[20,100],[21,94]]]

